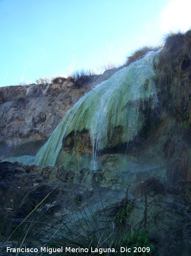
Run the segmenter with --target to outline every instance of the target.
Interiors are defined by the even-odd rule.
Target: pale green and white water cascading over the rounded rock
[[[143,59],[121,69],[82,97],[39,150],[34,163],[56,165],[63,139],[72,132],[89,132],[94,167],[100,150],[132,141],[144,125],[140,104],[143,109],[145,102],[149,102],[152,109],[157,105],[152,68],[154,54],[148,53]],[[116,136],[118,127],[120,133]],[[63,159],[63,165],[64,162]]]

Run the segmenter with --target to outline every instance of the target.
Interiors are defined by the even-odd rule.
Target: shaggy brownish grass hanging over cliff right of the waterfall
[[[152,66],[158,91],[172,98],[172,115],[182,128],[188,128],[191,124],[191,30],[165,36],[164,46],[155,54]]]

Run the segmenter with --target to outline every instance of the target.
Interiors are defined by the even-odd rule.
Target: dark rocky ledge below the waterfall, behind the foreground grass
[[[98,203],[98,178],[100,189],[105,188],[105,191],[116,183],[120,184],[120,190],[125,190],[127,182],[109,170],[92,172],[89,169],[82,169],[74,172],[63,166],[39,167],[10,162],[0,163],[0,175],[0,208],[6,218],[24,218],[34,205],[42,201],[52,190],[53,193],[50,193],[45,203],[52,204],[55,201],[52,210],[63,211],[70,202],[69,208],[74,207],[76,202],[79,206],[86,200]],[[107,196],[105,194],[103,200]],[[74,198],[78,198],[79,201],[75,202]]]

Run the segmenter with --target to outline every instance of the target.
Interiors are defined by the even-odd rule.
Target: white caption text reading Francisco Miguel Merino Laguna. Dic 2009
[[[148,248],[149,249],[149,248]],[[7,247],[6,248],[6,252],[10,252],[10,253],[37,253],[37,252],[44,252],[44,253],[88,253],[89,251],[91,251],[91,253],[115,253],[117,251],[115,251],[114,248],[71,248],[71,247],[60,247],[60,248],[49,248],[49,247],[40,247],[40,249],[38,248],[27,248],[27,247],[23,247],[23,248],[11,248],[11,247]],[[150,251],[150,249],[149,249]],[[121,253],[131,253],[131,248],[127,248],[127,247],[121,247],[120,249]],[[148,252],[148,251],[147,251]]]

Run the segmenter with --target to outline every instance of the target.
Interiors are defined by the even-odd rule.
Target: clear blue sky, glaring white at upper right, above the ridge
[[[190,0],[0,0],[0,86],[68,76],[191,28]]]

